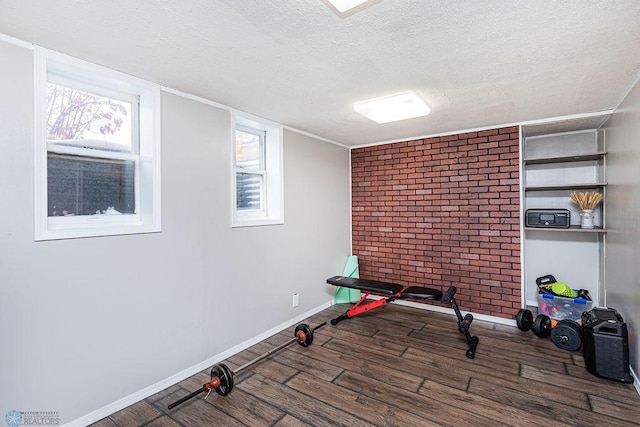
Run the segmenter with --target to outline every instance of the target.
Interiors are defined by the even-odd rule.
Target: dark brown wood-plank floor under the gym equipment
[[[471,332],[480,338],[473,360],[455,316],[389,304],[327,324],[310,347],[292,344],[243,370],[226,397],[200,394],[167,409],[209,381],[207,370],[94,426],[640,425],[635,388],[588,373],[581,351],[477,320]],[[292,336],[293,328],[224,363],[234,369]]]

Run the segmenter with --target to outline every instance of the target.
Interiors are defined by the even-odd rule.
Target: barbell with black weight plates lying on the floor
[[[190,393],[184,396],[183,398],[181,398],[180,400],[173,402],[172,404],[169,405],[168,408],[173,409],[176,406],[186,402],[187,400],[196,397],[200,393],[207,392],[207,396],[209,396],[209,393],[211,393],[211,390],[214,390],[220,396],[226,396],[227,394],[231,393],[231,390],[233,390],[234,375],[239,374],[241,371],[247,369],[249,366],[252,366],[258,363],[262,359],[265,359],[271,356],[273,353],[276,353],[282,350],[283,348],[287,347],[290,344],[293,344],[294,342],[297,342],[302,347],[309,347],[313,342],[313,333],[326,324],[327,322],[322,322],[315,328],[310,328],[309,325],[307,325],[306,323],[299,324],[298,326],[296,326],[293,338],[280,344],[277,347],[272,348],[271,350],[245,363],[239,368],[236,368],[235,371],[232,371],[231,369],[229,369],[229,367],[224,363],[218,363],[216,365],[213,365],[211,367],[210,381],[204,383],[200,389],[194,391],[193,393]],[[205,399],[206,399],[206,396],[205,396]]]

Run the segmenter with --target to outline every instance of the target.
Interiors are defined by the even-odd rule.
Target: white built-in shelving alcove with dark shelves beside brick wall
[[[604,122],[604,118],[596,123]],[[591,123],[590,123],[591,125]],[[568,209],[569,228],[533,228],[523,224],[523,272],[526,305],[537,306],[536,278],[552,274],[574,289],[587,289],[599,305],[604,295],[606,235],[606,155],[598,126],[567,124],[554,129],[522,129],[522,216],[528,209]],[[580,208],[572,191],[597,191],[604,200],[594,210],[593,229],[580,227]],[[524,223],[524,221],[523,221]]]

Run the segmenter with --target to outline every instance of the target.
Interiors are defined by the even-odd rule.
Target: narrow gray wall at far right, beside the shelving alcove
[[[631,366],[640,374],[640,84],[607,121],[606,305],[629,329]]]

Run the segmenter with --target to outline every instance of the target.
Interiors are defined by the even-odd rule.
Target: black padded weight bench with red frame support
[[[471,336],[469,333],[469,327],[473,322],[473,316],[468,313],[464,317],[460,313],[460,308],[454,298],[457,289],[455,286],[450,286],[445,293],[437,289],[424,288],[422,286],[409,286],[405,288],[402,285],[396,283],[378,282],[376,280],[366,279],[354,279],[352,277],[333,276],[327,279],[327,283],[334,286],[340,286],[343,288],[357,289],[364,292],[360,301],[356,302],[349,310],[331,320],[332,325],[336,325],[345,319],[350,319],[353,316],[364,313],[374,308],[382,307],[397,299],[414,299],[418,301],[432,301],[440,302],[443,304],[450,304],[453,311],[458,318],[458,331],[464,335],[467,340],[469,349],[466,356],[469,359],[473,359],[476,355],[476,347],[478,346],[478,337]],[[382,298],[377,300],[365,301],[369,295],[378,295]]]

